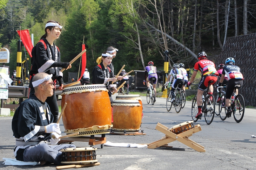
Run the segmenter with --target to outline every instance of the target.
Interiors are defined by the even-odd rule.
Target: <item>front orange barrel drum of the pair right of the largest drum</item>
[[[113,133],[135,134],[140,130],[141,108],[138,100],[114,100],[113,107]]]

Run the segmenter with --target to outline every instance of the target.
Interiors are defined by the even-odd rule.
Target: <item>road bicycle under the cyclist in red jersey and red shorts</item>
[[[211,80],[208,83],[209,84],[208,84],[207,89],[204,90],[207,93],[205,96],[202,95],[202,113],[204,113],[204,120],[206,121],[206,123],[208,125],[210,125],[211,122],[213,122],[213,118],[214,118],[214,114],[215,114],[215,99],[214,99],[213,94],[208,94],[210,83],[213,83],[213,81]],[[198,84],[190,84],[190,85],[198,85]],[[190,85],[189,85],[189,89],[191,89]],[[198,117],[196,118],[196,115],[198,113],[198,106],[197,106],[196,98],[197,98],[197,94],[193,98],[192,107],[191,107],[191,116],[192,116],[192,119],[194,120],[194,122],[196,122],[198,119],[201,120],[201,117],[202,117],[202,116],[200,116],[200,118],[198,118]]]

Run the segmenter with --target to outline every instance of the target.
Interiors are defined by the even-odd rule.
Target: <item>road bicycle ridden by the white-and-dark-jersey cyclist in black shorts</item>
[[[166,109],[169,112],[171,110],[171,106],[173,105],[175,107],[175,111],[176,113],[179,113],[181,111],[181,107],[182,107],[182,93],[181,90],[180,92],[177,91],[178,86],[181,83],[179,83],[177,85],[177,87],[174,90],[174,95],[175,95],[175,99],[173,102],[171,102],[171,91],[169,91],[167,98],[166,98]],[[164,84],[164,88],[166,88],[166,86],[170,86],[170,84]],[[183,106],[184,107],[184,106]]]

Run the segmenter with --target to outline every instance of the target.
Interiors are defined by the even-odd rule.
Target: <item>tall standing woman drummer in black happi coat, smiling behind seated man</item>
[[[60,90],[63,90],[63,74],[60,72],[60,70],[61,68],[70,69],[71,64],[68,62],[62,63],[60,61],[59,48],[53,43],[54,40],[59,38],[61,34],[61,28],[62,26],[60,26],[59,22],[48,21],[45,26],[45,35],[41,37],[41,40],[32,49],[32,68],[29,72],[29,75],[32,76],[29,83],[30,94],[35,93],[34,87],[32,85],[33,76],[40,72],[45,72],[49,75],[52,74],[54,86],[56,84],[56,80],[58,80]],[[47,97],[46,102],[49,104],[50,111],[53,114],[53,122],[56,123],[58,121],[59,107],[55,95],[55,90],[53,91],[53,95],[51,97]]]

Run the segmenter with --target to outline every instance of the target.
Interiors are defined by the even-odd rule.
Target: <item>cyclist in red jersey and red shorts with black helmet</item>
[[[200,52],[197,55],[198,62],[196,62],[194,66],[194,72],[190,78],[190,81],[188,82],[188,85],[190,85],[197,74],[197,71],[199,70],[201,72],[201,80],[198,84],[198,90],[197,90],[197,106],[198,106],[198,113],[195,116],[195,118],[200,118],[202,114],[202,95],[204,90],[208,87],[208,82],[210,80],[213,80],[213,83],[211,83],[209,87],[209,94],[213,94],[213,84],[217,81],[217,76],[219,75],[217,70],[215,69],[215,64],[207,59],[207,54],[203,51]]]

